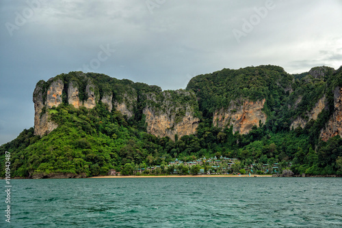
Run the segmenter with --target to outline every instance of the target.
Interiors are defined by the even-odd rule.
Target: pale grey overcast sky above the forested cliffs
[[[272,64],[342,65],[342,1],[0,1],[0,145],[34,126],[36,83],[82,70],[162,89]]]

